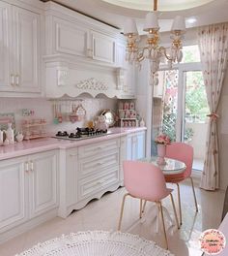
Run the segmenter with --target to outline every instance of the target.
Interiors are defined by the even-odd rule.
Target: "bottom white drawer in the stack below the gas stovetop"
[[[100,174],[100,176],[90,176],[81,179],[78,182],[78,200],[93,196],[95,193],[108,188],[116,182],[119,182],[118,168],[112,169],[109,174]]]

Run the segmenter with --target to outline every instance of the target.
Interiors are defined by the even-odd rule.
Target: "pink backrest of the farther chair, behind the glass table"
[[[167,144],[165,156],[184,162],[186,169],[183,176],[191,175],[193,162],[193,147],[191,145],[184,143]]]

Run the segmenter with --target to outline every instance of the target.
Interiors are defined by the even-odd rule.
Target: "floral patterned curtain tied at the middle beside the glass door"
[[[198,31],[200,55],[207,99],[210,107],[210,123],[207,150],[200,187],[207,190],[219,188],[218,143],[216,114],[222,83],[227,69],[228,23],[200,27]]]

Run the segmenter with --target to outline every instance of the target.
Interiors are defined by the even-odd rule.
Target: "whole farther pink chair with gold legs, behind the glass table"
[[[191,178],[192,162],[193,162],[193,147],[189,144],[184,143],[172,143],[166,146],[166,157],[177,159],[185,163],[185,172],[179,175],[166,175],[165,181],[170,183],[176,183],[178,187],[178,203],[179,203],[179,213],[180,213],[180,224],[182,225],[182,207],[181,207],[181,195],[179,182],[185,180],[185,178],[190,178],[195,208],[198,211],[197,201],[195,196],[194,184]]]

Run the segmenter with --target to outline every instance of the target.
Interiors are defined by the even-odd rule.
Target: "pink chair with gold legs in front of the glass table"
[[[168,248],[168,241],[164,226],[163,210],[161,205],[161,200],[168,195],[170,195],[171,197],[178,228],[179,223],[173,201],[173,196],[171,194],[173,190],[166,187],[165,179],[162,172],[157,166],[152,163],[124,161],[124,182],[128,193],[123,198],[118,230],[121,229],[125,200],[127,196],[140,199],[140,218],[142,217],[142,201],[145,200],[156,202],[158,210],[161,214],[165,243],[166,247]]]

